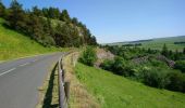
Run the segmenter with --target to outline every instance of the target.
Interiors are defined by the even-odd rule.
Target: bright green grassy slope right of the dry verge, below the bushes
[[[77,64],[75,71],[102,108],[185,108],[183,93],[149,87],[83,64]]]

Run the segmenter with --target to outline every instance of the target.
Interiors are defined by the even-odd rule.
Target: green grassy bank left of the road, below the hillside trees
[[[55,48],[44,48],[28,37],[2,26],[0,18],[0,60],[58,51]]]

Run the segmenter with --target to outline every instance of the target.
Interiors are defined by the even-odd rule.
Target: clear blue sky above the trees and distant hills
[[[11,0],[2,0],[9,5]],[[66,9],[97,37],[99,43],[185,35],[185,0],[17,0]]]

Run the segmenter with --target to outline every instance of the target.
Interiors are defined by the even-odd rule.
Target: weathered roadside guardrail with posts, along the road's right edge
[[[69,102],[69,97],[70,97],[70,82],[64,81],[65,71],[63,69],[63,64],[62,64],[64,56],[61,56],[58,62],[60,108],[67,108],[67,102]]]

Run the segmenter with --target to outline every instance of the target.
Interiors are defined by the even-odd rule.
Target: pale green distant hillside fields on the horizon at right
[[[137,41],[136,43],[141,43],[141,48],[150,48],[155,50],[161,50],[163,44],[165,43],[170,50],[178,50],[182,51],[183,48],[185,48],[185,44],[174,44],[174,42],[185,42],[185,36],[180,37],[170,37],[170,38],[158,38],[152,39],[151,41]],[[122,45],[122,44],[128,44],[134,42],[119,42],[119,43],[111,43],[111,45]]]

